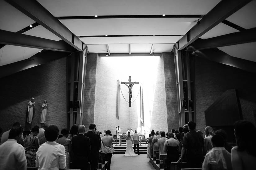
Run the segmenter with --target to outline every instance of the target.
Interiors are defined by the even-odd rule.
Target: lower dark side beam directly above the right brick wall
[[[192,52],[192,54],[207,60],[240,68],[251,73],[256,73],[256,62],[230,56],[227,53],[219,50],[218,48],[196,50]]]

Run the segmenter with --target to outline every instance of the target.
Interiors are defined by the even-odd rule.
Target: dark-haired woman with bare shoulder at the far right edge
[[[256,169],[256,128],[246,120],[234,124],[236,146],[231,149],[233,170]]]

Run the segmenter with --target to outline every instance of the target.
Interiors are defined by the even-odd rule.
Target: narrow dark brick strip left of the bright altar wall
[[[86,131],[94,120],[96,64],[97,53],[90,53],[87,56],[83,104],[83,125],[86,127]]]

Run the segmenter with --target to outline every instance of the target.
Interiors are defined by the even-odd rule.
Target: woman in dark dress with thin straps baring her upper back
[[[171,168],[171,162],[177,162],[181,152],[180,141],[174,139],[173,133],[168,134],[169,139],[164,141],[164,152],[167,153],[167,169]]]

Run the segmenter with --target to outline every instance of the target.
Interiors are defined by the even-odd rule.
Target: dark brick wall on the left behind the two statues
[[[47,100],[46,124],[66,128],[66,58],[42,64],[0,79],[0,126],[7,131],[14,122],[25,130],[40,126],[42,104]],[[31,126],[25,123],[27,105],[35,98]]]

